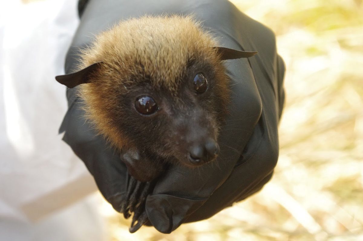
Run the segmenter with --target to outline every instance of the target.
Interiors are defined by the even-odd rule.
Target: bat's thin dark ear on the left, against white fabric
[[[68,88],[76,87],[77,85],[89,83],[89,77],[92,73],[95,72],[101,66],[103,62],[94,63],[84,69],[81,69],[77,72],[58,75],[56,76],[56,80],[61,84],[67,86]]]

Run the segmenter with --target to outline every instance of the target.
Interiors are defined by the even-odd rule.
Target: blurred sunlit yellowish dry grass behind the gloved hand
[[[96,194],[109,240],[363,240],[363,1],[231,1],[276,33],[286,63],[273,179],[168,235],[130,234],[130,220]]]

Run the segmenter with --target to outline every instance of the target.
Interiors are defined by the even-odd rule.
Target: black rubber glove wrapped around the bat
[[[135,7],[137,5],[137,7]],[[157,230],[170,233],[184,222],[213,216],[262,188],[271,178],[278,158],[277,125],[284,103],[284,63],[276,54],[273,33],[239,12],[228,1],[90,0],[81,17],[66,59],[66,73],[78,63],[75,53],[98,33],[119,20],[144,14],[194,13],[221,46],[258,51],[249,59],[225,61],[231,82],[231,106],[219,135],[215,162],[197,169],[176,166],[157,180],[146,199],[147,217]],[[69,110],[60,132],[85,162],[102,195],[120,211],[129,185],[127,168],[119,155],[97,136],[83,118],[82,102],[67,90]]]

